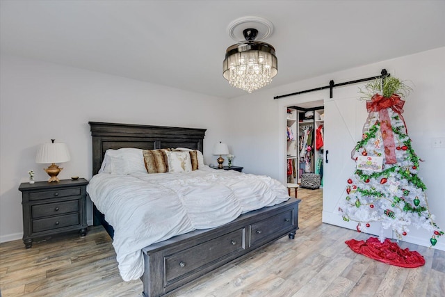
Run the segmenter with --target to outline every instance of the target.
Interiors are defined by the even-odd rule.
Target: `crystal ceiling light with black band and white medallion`
[[[245,41],[227,48],[223,77],[230,86],[248,93],[263,88],[278,73],[277,57],[272,45],[255,39],[272,34],[273,24],[261,17],[241,17],[229,25],[228,31],[234,39],[239,38],[242,31]]]

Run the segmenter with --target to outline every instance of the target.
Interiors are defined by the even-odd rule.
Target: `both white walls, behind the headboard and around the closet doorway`
[[[414,150],[425,160],[419,175],[428,186],[430,209],[444,229],[445,150],[433,150],[430,145],[431,138],[445,137],[444,56],[445,47],[229,101],[60,65],[1,57],[0,241],[22,236],[21,195],[17,188],[27,180],[26,172],[31,168],[37,171],[37,180],[47,179],[40,170],[42,166],[35,164],[34,156],[37,145],[50,138],[70,146],[72,161],[63,164],[65,170],[60,177],[90,178],[88,121],[207,128],[204,139],[207,163],[215,163],[210,154],[213,144],[225,141],[236,156],[234,165],[243,166],[244,172],[270,175],[284,182],[285,107],[308,99],[304,95],[278,100],[273,97],[325,86],[331,79],[340,83],[369,77],[379,74],[382,68],[414,83],[403,115]],[[318,99],[329,96],[328,90],[324,95],[319,93]],[[406,240],[425,244],[428,241],[425,234],[424,230],[413,227]],[[436,247],[443,249],[444,241],[445,238],[439,239]]]

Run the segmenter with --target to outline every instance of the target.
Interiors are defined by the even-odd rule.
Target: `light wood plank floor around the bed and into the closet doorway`
[[[425,257],[399,268],[351,251],[344,241],[369,235],[321,223],[321,190],[298,190],[300,230],[188,284],[172,296],[445,296],[445,252],[401,242]],[[123,282],[102,227],[67,234],[26,250],[0,244],[1,296],[141,296],[140,280]]]

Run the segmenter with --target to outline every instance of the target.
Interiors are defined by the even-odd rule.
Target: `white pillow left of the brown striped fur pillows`
[[[119,150],[106,150],[100,172],[115,175],[147,173],[142,150],[130,147]]]

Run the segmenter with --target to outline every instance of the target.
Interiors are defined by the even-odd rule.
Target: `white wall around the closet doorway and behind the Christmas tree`
[[[416,154],[425,161],[420,165],[419,176],[423,178],[423,182],[428,187],[426,193],[430,209],[432,214],[436,215],[436,223],[439,227],[442,226],[442,230],[445,230],[445,200],[442,188],[445,179],[445,149],[432,149],[431,147],[432,138],[445,138],[444,56],[445,47],[442,47],[325,74],[322,77],[230,100],[232,118],[236,119],[229,123],[230,143],[234,147],[236,155],[235,164],[244,166],[244,172],[270,175],[285,182],[285,108],[306,102],[309,96],[300,95],[277,100],[274,100],[273,97],[327,86],[331,79],[336,83],[341,83],[372,77],[380,74],[380,71],[386,68],[391,75],[402,80],[412,81],[414,91],[406,99],[403,116],[408,134],[413,141],[412,146]],[[339,92],[341,88],[334,88],[334,93],[336,90]],[[328,98],[329,90],[319,91],[317,95],[311,95],[311,100]],[[363,108],[365,109],[365,106]],[[365,120],[366,118],[363,118],[362,124],[357,129],[362,129]],[[351,147],[352,149],[353,147]],[[345,154],[350,154],[350,151]],[[351,172],[353,172],[353,165],[351,162]],[[428,246],[429,237],[429,232],[411,227],[411,232],[405,237],[405,240]],[[445,250],[445,236],[438,240],[436,248]]]

